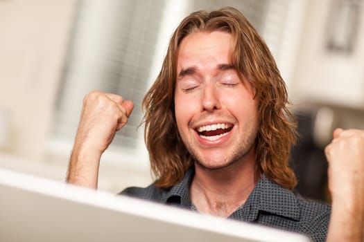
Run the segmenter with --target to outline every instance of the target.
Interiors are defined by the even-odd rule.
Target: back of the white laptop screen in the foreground
[[[6,169],[0,169],[0,194],[0,241],[309,241]]]

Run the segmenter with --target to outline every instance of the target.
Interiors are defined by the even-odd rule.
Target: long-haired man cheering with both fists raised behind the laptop
[[[331,212],[292,192],[295,122],[287,102],[268,47],[241,12],[192,13],[175,30],[144,98],[155,183],[122,194],[301,232],[313,241],[362,241],[364,132],[337,129],[326,149]],[[101,155],[132,108],[111,93],[85,97],[69,183],[97,187]]]

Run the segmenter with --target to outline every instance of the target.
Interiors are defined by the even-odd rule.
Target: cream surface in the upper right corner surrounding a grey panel
[[[364,111],[364,6],[354,51],[332,53],[326,48],[330,0],[306,4],[300,51],[291,83],[295,104],[318,102]]]

